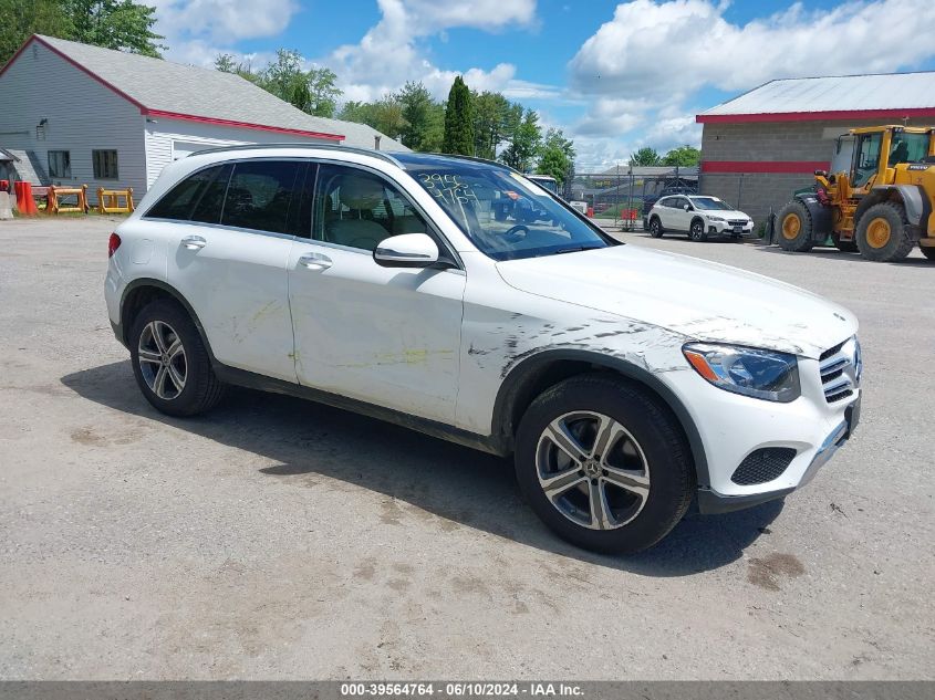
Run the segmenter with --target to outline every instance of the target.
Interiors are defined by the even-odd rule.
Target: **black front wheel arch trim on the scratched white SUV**
[[[542,351],[524,359],[505,377],[494,403],[491,435],[511,451],[519,421],[530,404],[550,386],[592,372],[611,372],[658,398],[682,428],[692,453],[697,483],[710,483],[702,436],[685,404],[653,373],[617,357],[583,349]]]

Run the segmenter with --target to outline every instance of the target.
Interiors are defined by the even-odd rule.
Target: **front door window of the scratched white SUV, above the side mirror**
[[[343,166],[319,171],[313,238],[372,251],[399,233],[429,233],[425,220],[399,190],[383,178]]]

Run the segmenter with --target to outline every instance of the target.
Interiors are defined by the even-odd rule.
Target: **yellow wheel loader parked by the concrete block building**
[[[815,170],[814,191],[797,194],[779,210],[780,248],[804,252],[831,236],[840,250],[859,250],[868,260],[902,260],[916,243],[935,260],[935,127],[869,126],[850,134],[851,169]]]

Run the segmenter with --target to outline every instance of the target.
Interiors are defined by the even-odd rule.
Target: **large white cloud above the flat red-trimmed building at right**
[[[688,105],[705,87],[741,92],[776,77],[912,69],[935,55],[932,0],[801,3],[736,24],[726,0],[634,0],[588,39],[569,63],[569,90],[590,101],[571,132],[582,160],[612,163],[700,142]],[[596,139],[611,139],[603,152]],[[620,154],[623,150],[624,154]],[[611,154],[614,154],[613,156]]]

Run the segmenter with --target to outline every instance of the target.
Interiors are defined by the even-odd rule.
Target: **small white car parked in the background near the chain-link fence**
[[[674,195],[663,197],[650,210],[650,234],[662,238],[663,233],[687,233],[693,241],[709,238],[735,238],[749,236],[754,220],[709,195]]]

